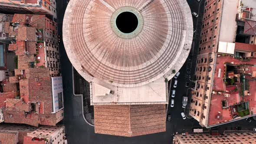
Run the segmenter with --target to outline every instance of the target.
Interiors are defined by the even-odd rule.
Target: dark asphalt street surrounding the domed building
[[[202,12],[203,12],[203,4],[198,3],[197,0],[188,0],[191,11],[195,11],[198,13],[199,4],[200,4],[200,12],[199,17],[194,19],[194,29],[197,30],[196,36],[193,41],[193,46],[190,51],[190,59],[191,59],[191,79],[193,79],[192,75],[194,75],[195,71],[195,62],[196,56],[199,46],[200,39],[200,27],[202,21]],[[59,35],[62,36],[62,20],[65,13],[67,1],[66,0],[58,0],[57,1],[57,15],[58,15],[58,25],[59,25]],[[64,33],[65,35],[65,33]],[[172,136],[171,134],[178,132],[181,134],[183,129],[186,132],[191,132],[192,128],[200,128],[200,125],[197,121],[191,121],[190,118],[186,118],[183,120],[181,118],[181,111],[184,111],[184,108],[181,107],[182,103],[182,95],[186,95],[187,87],[185,87],[185,82],[189,81],[189,79],[185,78],[185,72],[187,69],[187,62],[181,68],[181,75],[177,78],[178,84],[176,88],[176,96],[174,98],[174,108],[170,108],[168,105],[167,114],[171,115],[171,121],[166,121],[166,132],[157,133],[157,134],[148,134],[137,137],[119,137],[112,135],[104,135],[104,134],[95,134],[94,127],[88,125],[83,118],[82,111],[82,98],[81,96],[73,95],[72,90],[72,65],[69,62],[69,59],[66,55],[63,43],[59,44],[60,50],[60,62],[61,62],[61,72],[63,77],[63,90],[64,90],[64,124],[65,131],[67,134],[67,140],[69,144],[171,144]],[[174,80],[172,80],[173,82]],[[173,84],[171,84],[173,85]],[[172,88],[171,88],[172,89]],[[189,95],[191,97],[191,95]],[[171,98],[170,98],[171,100]],[[190,99],[188,100],[188,104],[190,103]],[[189,105],[187,105],[189,108]],[[237,121],[234,123],[226,124],[220,126],[221,131],[231,130],[231,127],[236,127],[238,125],[242,126],[242,128],[253,128],[256,126],[256,121],[252,121],[252,124],[249,125],[245,120]]]

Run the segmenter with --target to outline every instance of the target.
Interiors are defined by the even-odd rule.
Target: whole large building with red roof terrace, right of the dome
[[[206,0],[190,115],[207,128],[254,111],[255,13],[250,0]],[[244,16],[249,17],[244,18]],[[251,85],[251,86],[250,86]],[[249,93],[248,93],[249,92]]]

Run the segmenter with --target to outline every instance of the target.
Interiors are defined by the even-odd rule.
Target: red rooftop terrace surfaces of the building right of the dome
[[[252,49],[254,46],[236,43],[235,50],[256,52],[256,49]],[[255,58],[242,61],[241,58],[233,56],[219,55],[217,57],[208,126],[238,119],[250,113],[256,114],[256,90],[254,88],[256,79],[252,75],[256,70],[256,66],[253,66],[255,64]],[[219,69],[221,69],[220,74]],[[229,72],[230,69],[233,71]],[[218,75],[220,76],[218,77]],[[242,75],[245,75],[245,82],[241,78]],[[230,78],[234,79],[234,77],[238,77],[238,79],[231,82],[234,83],[232,85]],[[246,87],[245,90],[243,86]]]

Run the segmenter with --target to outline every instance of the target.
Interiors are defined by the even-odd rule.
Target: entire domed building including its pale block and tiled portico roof
[[[167,81],[186,61],[192,39],[186,0],[70,0],[63,43],[90,83],[95,133],[166,131]]]

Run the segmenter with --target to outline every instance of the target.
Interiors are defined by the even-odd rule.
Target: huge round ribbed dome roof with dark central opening
[[[63,42],[86,80],[133,87],[187,58],[182,50],[191,46],[192,25],[186,0],[70,0]]]

